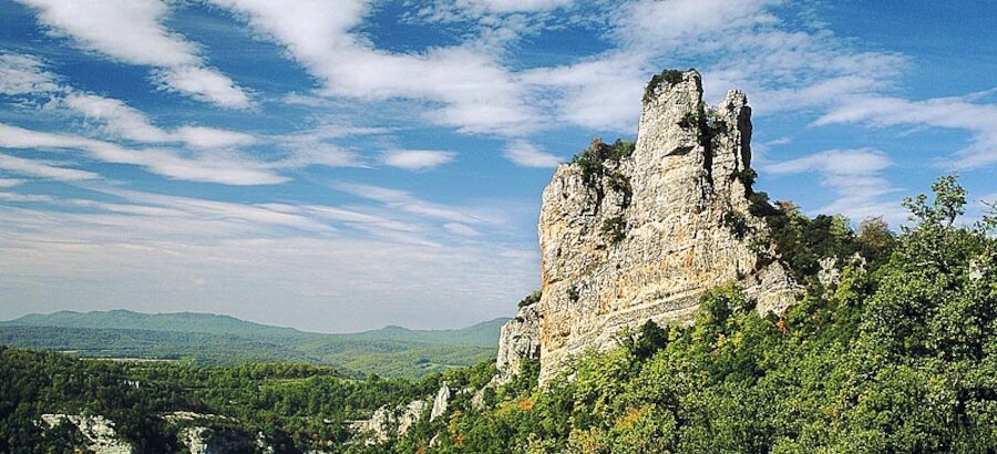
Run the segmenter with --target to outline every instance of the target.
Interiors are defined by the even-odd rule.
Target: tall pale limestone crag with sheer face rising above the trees
[[[767,227],[749,213],[747,97],[731,90],[707,110],[699,73],[665,79],[648,89],[636,147],[594,142],[544,190],[543,296],[503,327],[500,371],[538,345],[544,381],[624,327],[689,320],[703,291],[732,281],[761,311],[794,301],[785,269],[760,258],[771,247],[752,243]]]

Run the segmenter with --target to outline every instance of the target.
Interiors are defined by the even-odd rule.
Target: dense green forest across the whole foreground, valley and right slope
[[[304,364],[198,367],[79,360],[0,349],[0,452],[63,452],[47,412],[92,412],[144,452],[174,452],[178,410],[230,416],[277,452],[397,453],[991,453],[997,450],[997,213],[958,221],[953,177],[905,200],[898,233],[770,206],[773,259],[805,292],[761,316],[737,287],[702,297],[695,324],[617,333],[543,386],[536,362],[512,382],[458,393],[380,445],[350,442],[349,422],[383,404],[486,388],[491,363],[418,382],[345,378]],[[763,202],[763,200],[762,200]],[[760,203],[762,203],[760,202]],[[767,202],[763,202],[768,204]],[[820,266],[835,258],[831,272]]]

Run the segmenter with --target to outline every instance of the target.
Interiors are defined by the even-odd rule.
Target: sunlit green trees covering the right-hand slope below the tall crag
[[[997,240],[986,226],[955,226],[962,199],[945,194],[958,190],[935,189],[903,235],[870,225],[861,241],[843,218],[779,207],[799,235],[795,264],[852,250],[887,257],[876,269],[846,266],[830,288],[810,286],[781,317],[759,314],[736,287],[716,289],[691,327],[624,331],[623,348],[589,352],[543,388],[459,409],[424,435],[440,435],[430,451],[993,452]]]

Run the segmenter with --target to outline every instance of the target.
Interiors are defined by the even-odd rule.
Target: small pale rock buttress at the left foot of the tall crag
[[[523,360],[539,358],[539,311],[537,303],[520,308],[516,317],[502,326],[498,336],[498,374],[495,384],[507,383],[520,372]]]

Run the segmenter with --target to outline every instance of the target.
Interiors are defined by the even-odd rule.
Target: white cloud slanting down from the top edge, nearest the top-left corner
[[[112,59],[155,66],[167,90],[223,107],[251,107],[249,96],[228,76],[205,65],[196,44],[163,25],[168,8],[158,0],[19,0],[38,11],[52,33]]]

